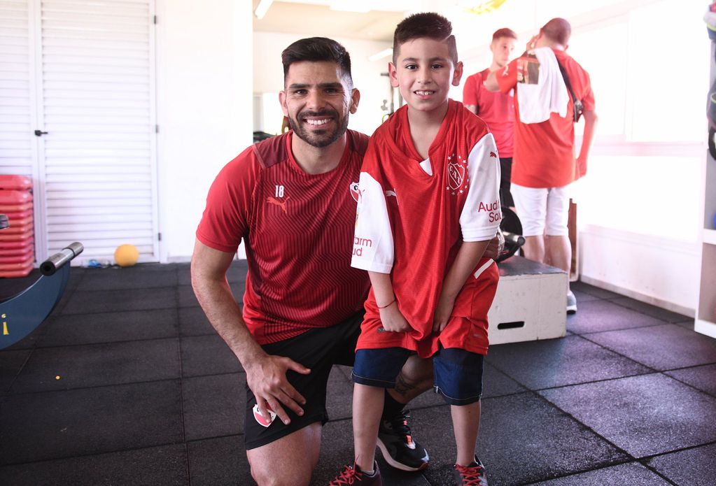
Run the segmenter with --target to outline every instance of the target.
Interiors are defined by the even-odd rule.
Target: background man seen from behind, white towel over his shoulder
[[[548,21],[528,43],[528,52],[541,59],[538,77],[553,81],[546,90],[535,79],[529,79],[535,77],[534,69],[529,69],[534,56],[513,60],[505,69],[491,72],[485,81],[490,91],[508,93],[515,89],[511,191],[527,240],[523,246],[525,256],[548,262],[568,274],[572,258],[567,231],[567,186],[586,174],[597,122],[589,73],[566,53],[570,36],[569,22],[556,18]],[[576,158],[574,99],[566,88],[560,66],[569,77],[574,97],[584,105],[584,138]],[[542,94],[541,99],[533,98],[537,92]],[[576,312],[576,299],[569,290],[567,311]]]

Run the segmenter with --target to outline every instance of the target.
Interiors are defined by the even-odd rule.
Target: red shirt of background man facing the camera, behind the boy
[[[515,125],[513,92],[503,94],[485,89],[483,83],[489,74],[490,69],[485,69],[465,79],[463,103],[478,107],[478,117],[488,124],[500,157],[512,157]]]

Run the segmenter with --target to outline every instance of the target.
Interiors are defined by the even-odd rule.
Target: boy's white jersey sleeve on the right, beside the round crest
[[[460,213],[463,241],[494,238],[500,227],[500,158],[491,133],[482,137],[468,155],[470,188]]]

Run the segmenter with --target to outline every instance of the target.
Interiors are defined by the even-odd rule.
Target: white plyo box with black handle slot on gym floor
[[[500,283],[488,312],[490,344],[562,337],[567,331],[567,274],[513,256],[500,263]]]

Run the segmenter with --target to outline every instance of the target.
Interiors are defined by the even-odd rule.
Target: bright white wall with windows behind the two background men
[[[581,278],[690,315],[700,280],[704,11],[679,0],[528,0],[490,15],[450,16],[466,74],[488,67],[500,27],[517,31],[519,54],[552,17],[571,22],[568,52],[591,74],[600,119],[588,176],[573,188]],[[681,66],[687,85],[675,82]],[[462,99],[462,87],[451,95]]]

